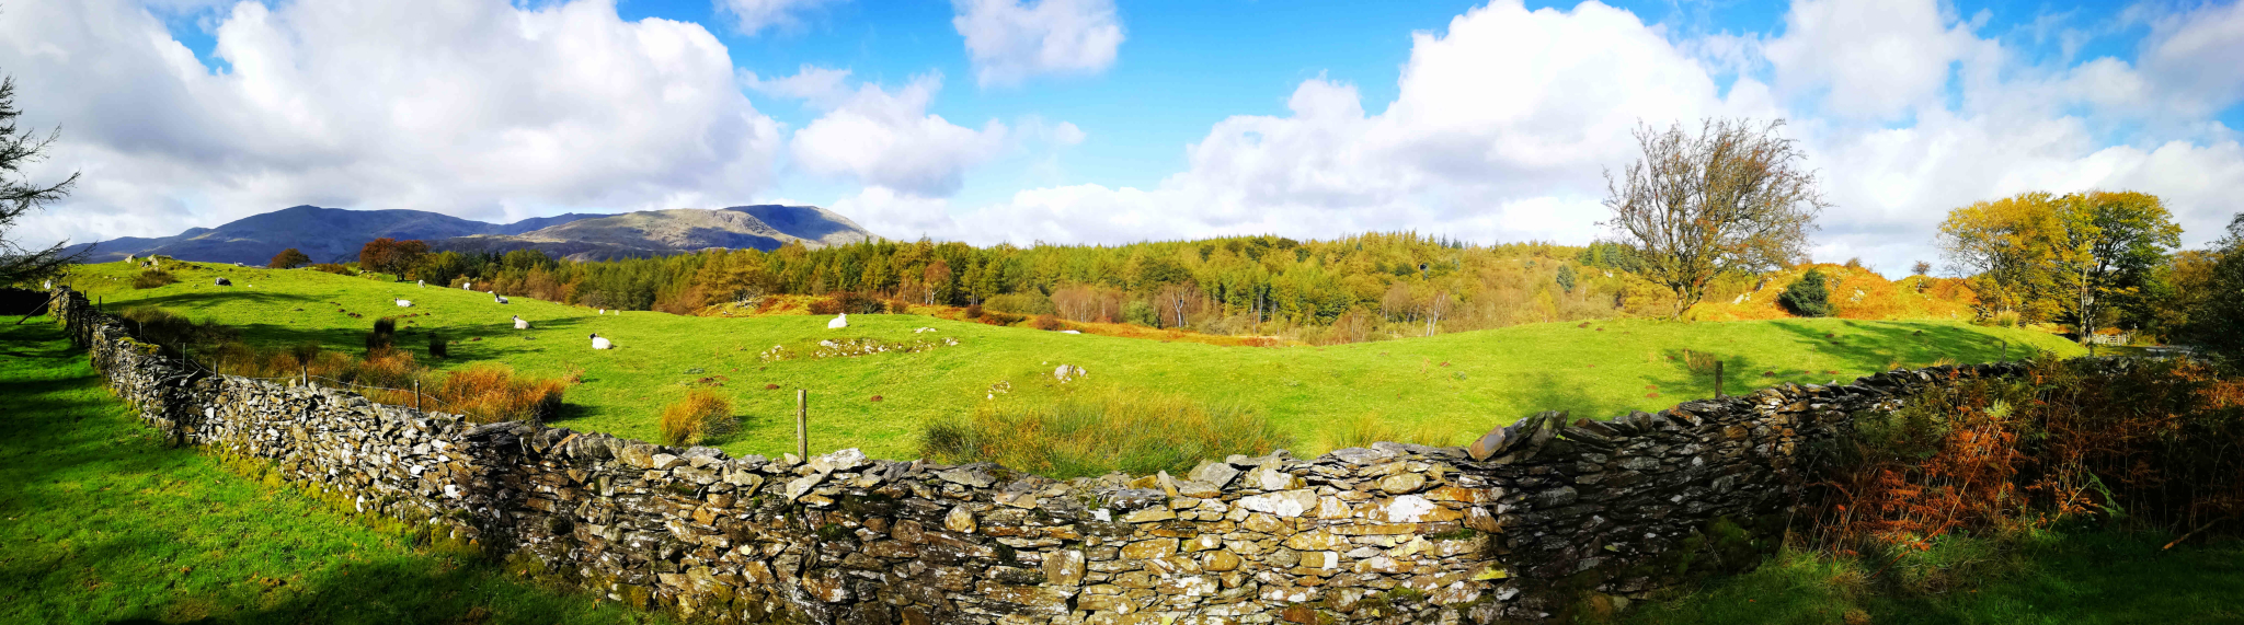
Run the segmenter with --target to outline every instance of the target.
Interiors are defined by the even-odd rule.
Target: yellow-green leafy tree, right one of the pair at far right
[[[2067,316],[2087,343],[2116,302],[2141,296],[2181,226],[2156,195],[2073,193],[2056,202],[2064,235],[2053,258],[2067,287]]]

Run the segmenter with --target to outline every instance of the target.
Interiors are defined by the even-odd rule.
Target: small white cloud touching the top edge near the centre
[[[1097,74],[1115,63],[1122,22],[1113,0],[951,0],[981,85],[1037,74]]]

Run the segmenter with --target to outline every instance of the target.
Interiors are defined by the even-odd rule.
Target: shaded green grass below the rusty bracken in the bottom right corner
[[[2013,569],[1939,594],[1889,591],[1863,560],[1779,553],[1757,571],[1710,580],[1670,603],[1640,603],[1631,625],[2118,625],[2244,623],[2244,542],[2159,549],[2170,535],[2051,535]]]

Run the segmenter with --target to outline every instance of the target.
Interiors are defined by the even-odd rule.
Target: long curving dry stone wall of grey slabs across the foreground
[[[714,623],[1497,623],[1696,571],[1717,520],[1786,513],[1851,430],[2008,365],[1786,385],[1658,414],[1544,412],[1470,448],[1373,444],[1185,475],[729,457],[182,367],[58,291],[72,336],[175,441],[361,513]]]

